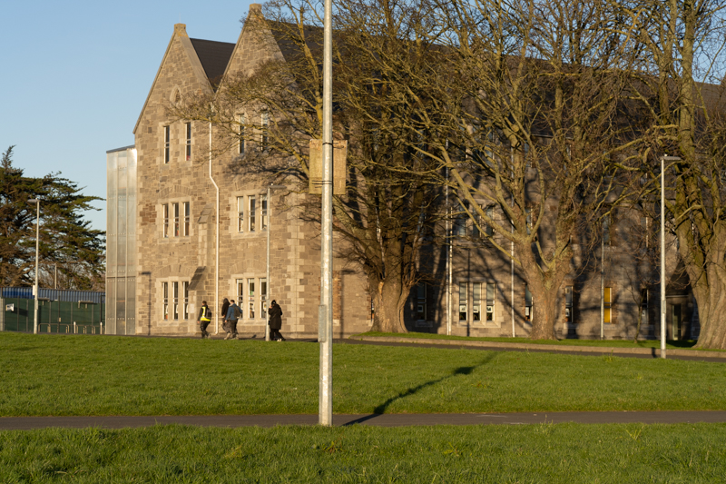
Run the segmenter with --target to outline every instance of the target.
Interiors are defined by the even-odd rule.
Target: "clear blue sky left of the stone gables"
[[[174,24],[192,38],[237,42],[249,0],[5,2],[0,12],[0,151],[28,176],[61,172],[105,198],[106,151],[133,125]],[[261,2],[258,2],[261,3]],[[88,212],[106,229],[105,202]]]

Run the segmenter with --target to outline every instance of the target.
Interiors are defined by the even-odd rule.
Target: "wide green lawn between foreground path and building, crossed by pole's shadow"
[[[724,410],[722,363],[334,345],[336,413]],[[316,343],[0,333],[0,416],[318,411]]]

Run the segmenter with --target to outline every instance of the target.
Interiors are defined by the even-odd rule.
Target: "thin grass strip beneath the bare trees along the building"
[[[487,341],[497,343],[528,343],[528,344],[554,344],[560,346],[594,346],[598,348],[646,348],[660,349],[660,340],[530,340],[529,338],[489,338],[483,336],[448,336],[431,332],[379,332],[368,331],[357,334],[358,336],[390,337],[390,338],[417,338],[425,340],[452,340],[452,341]],[[354,338],[355,338],[354,337]],[[693,346],[698,341],[693,340],[668,340],[666,350],[693,350],[693,351],[721,351],[721,350],[695,350]]]

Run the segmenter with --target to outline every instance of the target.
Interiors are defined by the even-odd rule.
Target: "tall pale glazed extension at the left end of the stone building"
[[[106,153],[106,332],[136,334],[136,149]]]

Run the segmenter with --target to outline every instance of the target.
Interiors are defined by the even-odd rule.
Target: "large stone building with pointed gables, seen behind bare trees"
[[[250,15],[261,15],[260,5],[251,5]],[[215,312],[212,330],[217,322],[221,331],[216,312],[227,297],[242,310],[242,335],[263,337],[265,308],[275,299],[284,311],[283,333],[317,337],[319,232],[300,217],[303,199],[314,195],[270,188],[263,176],[233,170],[243,145],[215,154],[213,125],[173,121],[165,109],[187,94],[213,94],[225,77],[250,73],[267,60],[284,61],[271,33],[264,42],[260,35],[266,34],[245,27],[231,44],[190,38],[185,25],[174,25],[133,128],[134,145],[108,153],[109,332],[198,333],[201,301]],[[619,245],[623,229],[608,230],[613,242],[598,257],[575,257],[556,330],[562,337],[599,338],[602,326],[605,338],[632,338],[640,314],[642,336],[657,337],[657,287],[629,273],[638,264]],[[521,273],[501,253],[472,242],[471,227],[456,231],[451,249],[430,248],[430,274],[410,295],[407,328],[526,336],[537,301]],[[676,262],[669,261],[672,273]],[[372,321],[364,274],[337,260],[334,284],[334,335],[367,331]],[[676,282],[671,293],[669,333],[685,336],[692,298]]]

